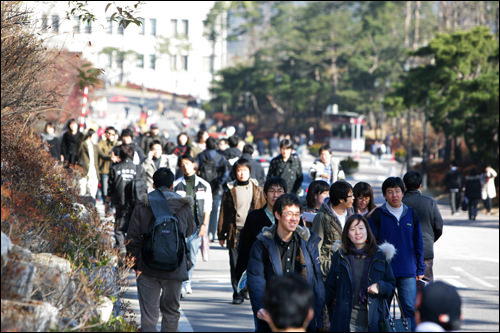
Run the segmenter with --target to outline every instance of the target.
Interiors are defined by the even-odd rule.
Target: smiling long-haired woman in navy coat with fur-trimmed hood
[[[330,311],[330,332],[376,332],[382,319],[383,300],[390,299],[396,279],[390,260],[392,244],[377,242],[363,215],[351,215],[335,242],[325,282]]]

